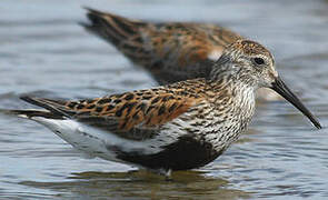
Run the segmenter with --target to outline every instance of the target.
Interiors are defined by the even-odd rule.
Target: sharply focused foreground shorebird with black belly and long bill
[[[34,120],[74,148],[106,160],[158,172],[200,168],[247,129],[255,91],[270,88],[320,129],[287,88],[261,44],[230,44],[206,78],[87,100],[21,97],[44,110],[7,112]]]

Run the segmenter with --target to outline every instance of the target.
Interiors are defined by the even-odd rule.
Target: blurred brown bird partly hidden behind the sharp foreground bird
[[[130,61],[150,72],[160,84],[205,78],[223,49],[238,39],[238,33],[213,23],[151,23],[123,18],[90,8],[89,32],[113,44]],[[267,89],[258,91],[262,100],[280,100]]]

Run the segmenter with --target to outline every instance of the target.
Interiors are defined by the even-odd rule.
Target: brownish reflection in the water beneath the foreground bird
[[[199,171],[178,171],[171,181],[147,171],[80,172],[63,182],[23,181],[20,184],[47,189],[62,198],[137,198],[137,199],[240,199],[251,194],[228,189],[229,182]]]

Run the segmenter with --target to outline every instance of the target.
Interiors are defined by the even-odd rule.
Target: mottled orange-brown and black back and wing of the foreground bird
[[[188,111],[202,97],[178,88],[155,88],[79,101],[22,99],[50,110],[57,118],[72,118],[123,138],[141,140],[156,134],[162,124]]]

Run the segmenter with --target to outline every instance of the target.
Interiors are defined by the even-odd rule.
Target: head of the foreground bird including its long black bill
[[[238,40],[227,47],[213,66],[210,79],[233,80],[255,89],[270,88],[299,109],[317,128],[321,128],[319,121],[279,77],[274,56],[258,42]]]

